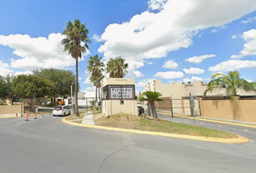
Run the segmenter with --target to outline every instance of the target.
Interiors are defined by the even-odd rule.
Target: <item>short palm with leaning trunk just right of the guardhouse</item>
[[[155,110],[155,102],[163,102],[163,99],[159,98],[162,94],[159,92],[143,92],[139,97],[140,102],[147,101],[150,105],[151,112],[155,121],[158,121],[158,115]],[[148,105],[148,106],[149,106]]]

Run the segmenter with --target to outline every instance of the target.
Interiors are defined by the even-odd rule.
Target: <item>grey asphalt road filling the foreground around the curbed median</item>
[[[37,120],[30,117],[30,121],[25,121],[25,117],[1,118],[0,173],[256,170],[252,129],[242,132],[253,139],[249,143],[210,143],[82,128],[64,124],[61,118],[48,115]]]

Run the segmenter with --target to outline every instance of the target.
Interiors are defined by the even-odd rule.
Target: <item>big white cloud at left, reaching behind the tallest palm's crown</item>
[[[74,58],[64,52],[60,41],[64,35],[51,33],[46,37],[30,37],[29,35],[0,35],[0,45],[14,49],[11,58],[12,68],[34,70],[38,68],[64,68],[74,66]],[[88,55],[88,50],[83,56]],[[85,60],[83,57],[80,61]]]

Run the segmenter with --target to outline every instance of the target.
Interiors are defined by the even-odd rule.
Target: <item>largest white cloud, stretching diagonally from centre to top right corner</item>
[[[201,30],[221,27],[255,10],[255,0],[149,1],[149,9],[121,24],[106,27],[98,49],[104,57],[122,56],[143,62],[163,58],[173,50],[188,48]],[[203,15],[202,15],[203,14]]]

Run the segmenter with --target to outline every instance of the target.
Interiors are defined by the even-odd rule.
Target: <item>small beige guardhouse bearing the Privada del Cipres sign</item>
[[[105,79],[101,87],[103,115],[108,116],[119,113],[137,115],[135,79]]]

